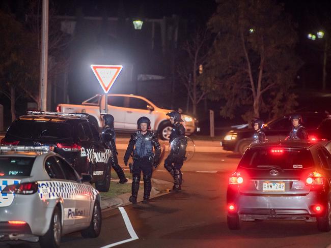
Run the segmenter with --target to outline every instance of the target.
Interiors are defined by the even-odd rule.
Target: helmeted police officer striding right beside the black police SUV
[[[118,177],[120,178],[120,183],[126,183],[128,179],[126,179],[125,174],[118,164],[117,160],[117,149],[115,144],[116,134],[114,130],[114,116],[111,114],[103,115],[104,125],[105,127],[101,131],[102,141],[112,150],[113,158],[112,158],[112,167],[116,171]]]

